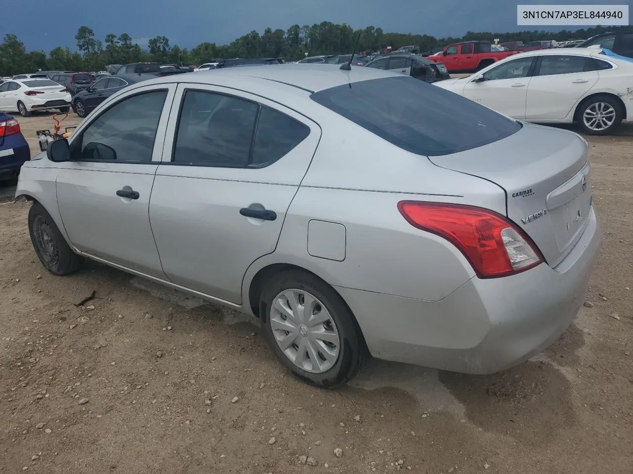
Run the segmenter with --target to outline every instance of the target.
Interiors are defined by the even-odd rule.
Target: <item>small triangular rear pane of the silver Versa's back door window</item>
[[[286,155],[310,135],[310,128],[268,107],[261,107],[250,166],[263,167]]]

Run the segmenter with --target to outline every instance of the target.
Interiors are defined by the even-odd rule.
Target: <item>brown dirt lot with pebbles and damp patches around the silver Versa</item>
[[[51,114],[20,123],[35,152]],[[28,204],[0,198],[0,470],[633,473],[633,126],[588,140],[594,306],[486,377],[371,361],[349,386],[308,387],[235,313],[103,265],[51,276]],[[74,306],[92,291],[94,309]]]

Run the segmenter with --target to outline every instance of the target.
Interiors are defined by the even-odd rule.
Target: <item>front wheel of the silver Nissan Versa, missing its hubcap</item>
[[[42,265],[54,275],[68,275],[81,268],[83,258],[66,243],[53,217],[36,202],[28,210],[28,233]]]

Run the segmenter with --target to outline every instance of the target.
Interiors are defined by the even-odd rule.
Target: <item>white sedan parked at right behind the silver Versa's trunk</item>
[[[511,118],[577,123],[606,135],[633,119],[633,63],[601,49],[541,49],[510,56],[472,76],[434,85]]]

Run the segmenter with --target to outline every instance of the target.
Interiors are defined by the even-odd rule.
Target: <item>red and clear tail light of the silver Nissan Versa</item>
[[[529,236],[492,210],[418,201],[401,201],[398,210],[412,226],[456,246],[480,278],[517,274],[543,262]]]

